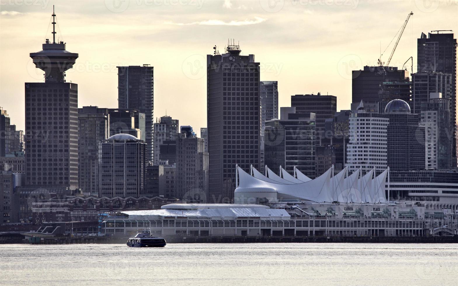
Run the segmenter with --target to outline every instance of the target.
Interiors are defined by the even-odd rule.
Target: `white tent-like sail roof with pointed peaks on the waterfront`
[[[283,168],[280,172],[284,178],[278,176],[266,166],[266,175],[262,175],[256,168],[246,173],[236,166],[236,186],[234,202],[240,204],[275,203],[279,200],[305,200],[316,203],[369,203],[386,204],[385,183],[389,169],[374,178],[375,169],[361,176],[357,170],[348,175],[345,167],[338,174],[334,174],[334,166],[329,168],[320,177],[303,182],[299,175],[294,178]],[[295,174],[300,173],[295,170]],[[287,174],[287,175],[286,175]]]

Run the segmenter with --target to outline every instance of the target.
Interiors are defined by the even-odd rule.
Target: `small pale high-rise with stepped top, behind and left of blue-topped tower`
[[[176,140],[178,135],[178,119],[170,116],[162,116],[159,122],[154,124],[154,163],[158,164],[161,159],[160,145],[164,141]]]

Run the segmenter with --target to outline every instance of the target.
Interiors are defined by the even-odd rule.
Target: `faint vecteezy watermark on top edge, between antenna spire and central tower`
[[[105,7],[114,13],[120,13],[132,6],[194,6],[201,9],[205,0],[105,0]]]

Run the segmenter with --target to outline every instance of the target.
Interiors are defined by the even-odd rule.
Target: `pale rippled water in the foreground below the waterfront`
[[[0,285],[456,285],[457,244],[0,245]]]

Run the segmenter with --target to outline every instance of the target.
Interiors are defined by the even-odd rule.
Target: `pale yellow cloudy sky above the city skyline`
[[[116,66],[149,64],[154,117],[197,133],[207,125],[206,55],[224,53],[228,38],[255,54],[262,81],[278,81],[280,107],[321,92],[340,110],[350,108],[351,70],[376,65],[388,47],[386,61],[410,11],[392,66],[413,56],[416,71],[421,32],[458,31],[458,0],[0,0],[0,106],[20,130],[24,82],[44,81],[29,53],[52,38],[53,5],[57,38],[79,54],[66,73],[78,107],[117,108]]]

